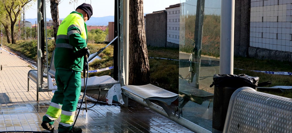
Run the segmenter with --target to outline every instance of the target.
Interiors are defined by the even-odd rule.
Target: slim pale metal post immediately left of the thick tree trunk
[[[124,71],[125,71],[125,84],[129,82],[129,0],[124,0],[123,3],[123,42],[124,42]]]

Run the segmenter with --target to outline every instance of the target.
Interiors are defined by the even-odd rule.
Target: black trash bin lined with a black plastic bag
[[[258,81],[259,77],[251,77],[245,74],[214,74],[213,83],[210,85],[210,87],[215,85],[212,133],[223,132],[228,105],[233,92],[241,87],[251,87],[256,90]]]

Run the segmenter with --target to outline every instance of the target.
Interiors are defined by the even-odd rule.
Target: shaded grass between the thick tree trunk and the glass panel
[[[148,57],[179,60],[178,48],[147,47]],[[178,94],[179,61],[149,58],[151,84]]]

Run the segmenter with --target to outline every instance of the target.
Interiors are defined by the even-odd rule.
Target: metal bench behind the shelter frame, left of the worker
[[[56,73],[56,69],[55,69],[55,65],[54,65],[54,55],[55,55],[55,50],[52,53],[51,64],[50,64],[50,67],[48,69],[48,74],[51,76],[51,78],[53,78],[53,76],[55,76],[55,73]],[[47,78],[47,74],[44,74],[43,77]],[[28,71],[28,73],[27,73],[27,91],[29,91],[29,79],[31,79],[34,83],[36,83],[37,78],[38,78],[37,77],[37,70],[32,69],[32,70]],[[44,83],[44,84],[46,84],[46,83]],[[45,92],[45,91],[52,91],[52,90],[42,89],[39,91]]]

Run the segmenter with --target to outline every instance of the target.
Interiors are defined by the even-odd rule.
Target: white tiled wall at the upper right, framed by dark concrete
[[[251,0],[250,46],[292,52],[291,3]]]

